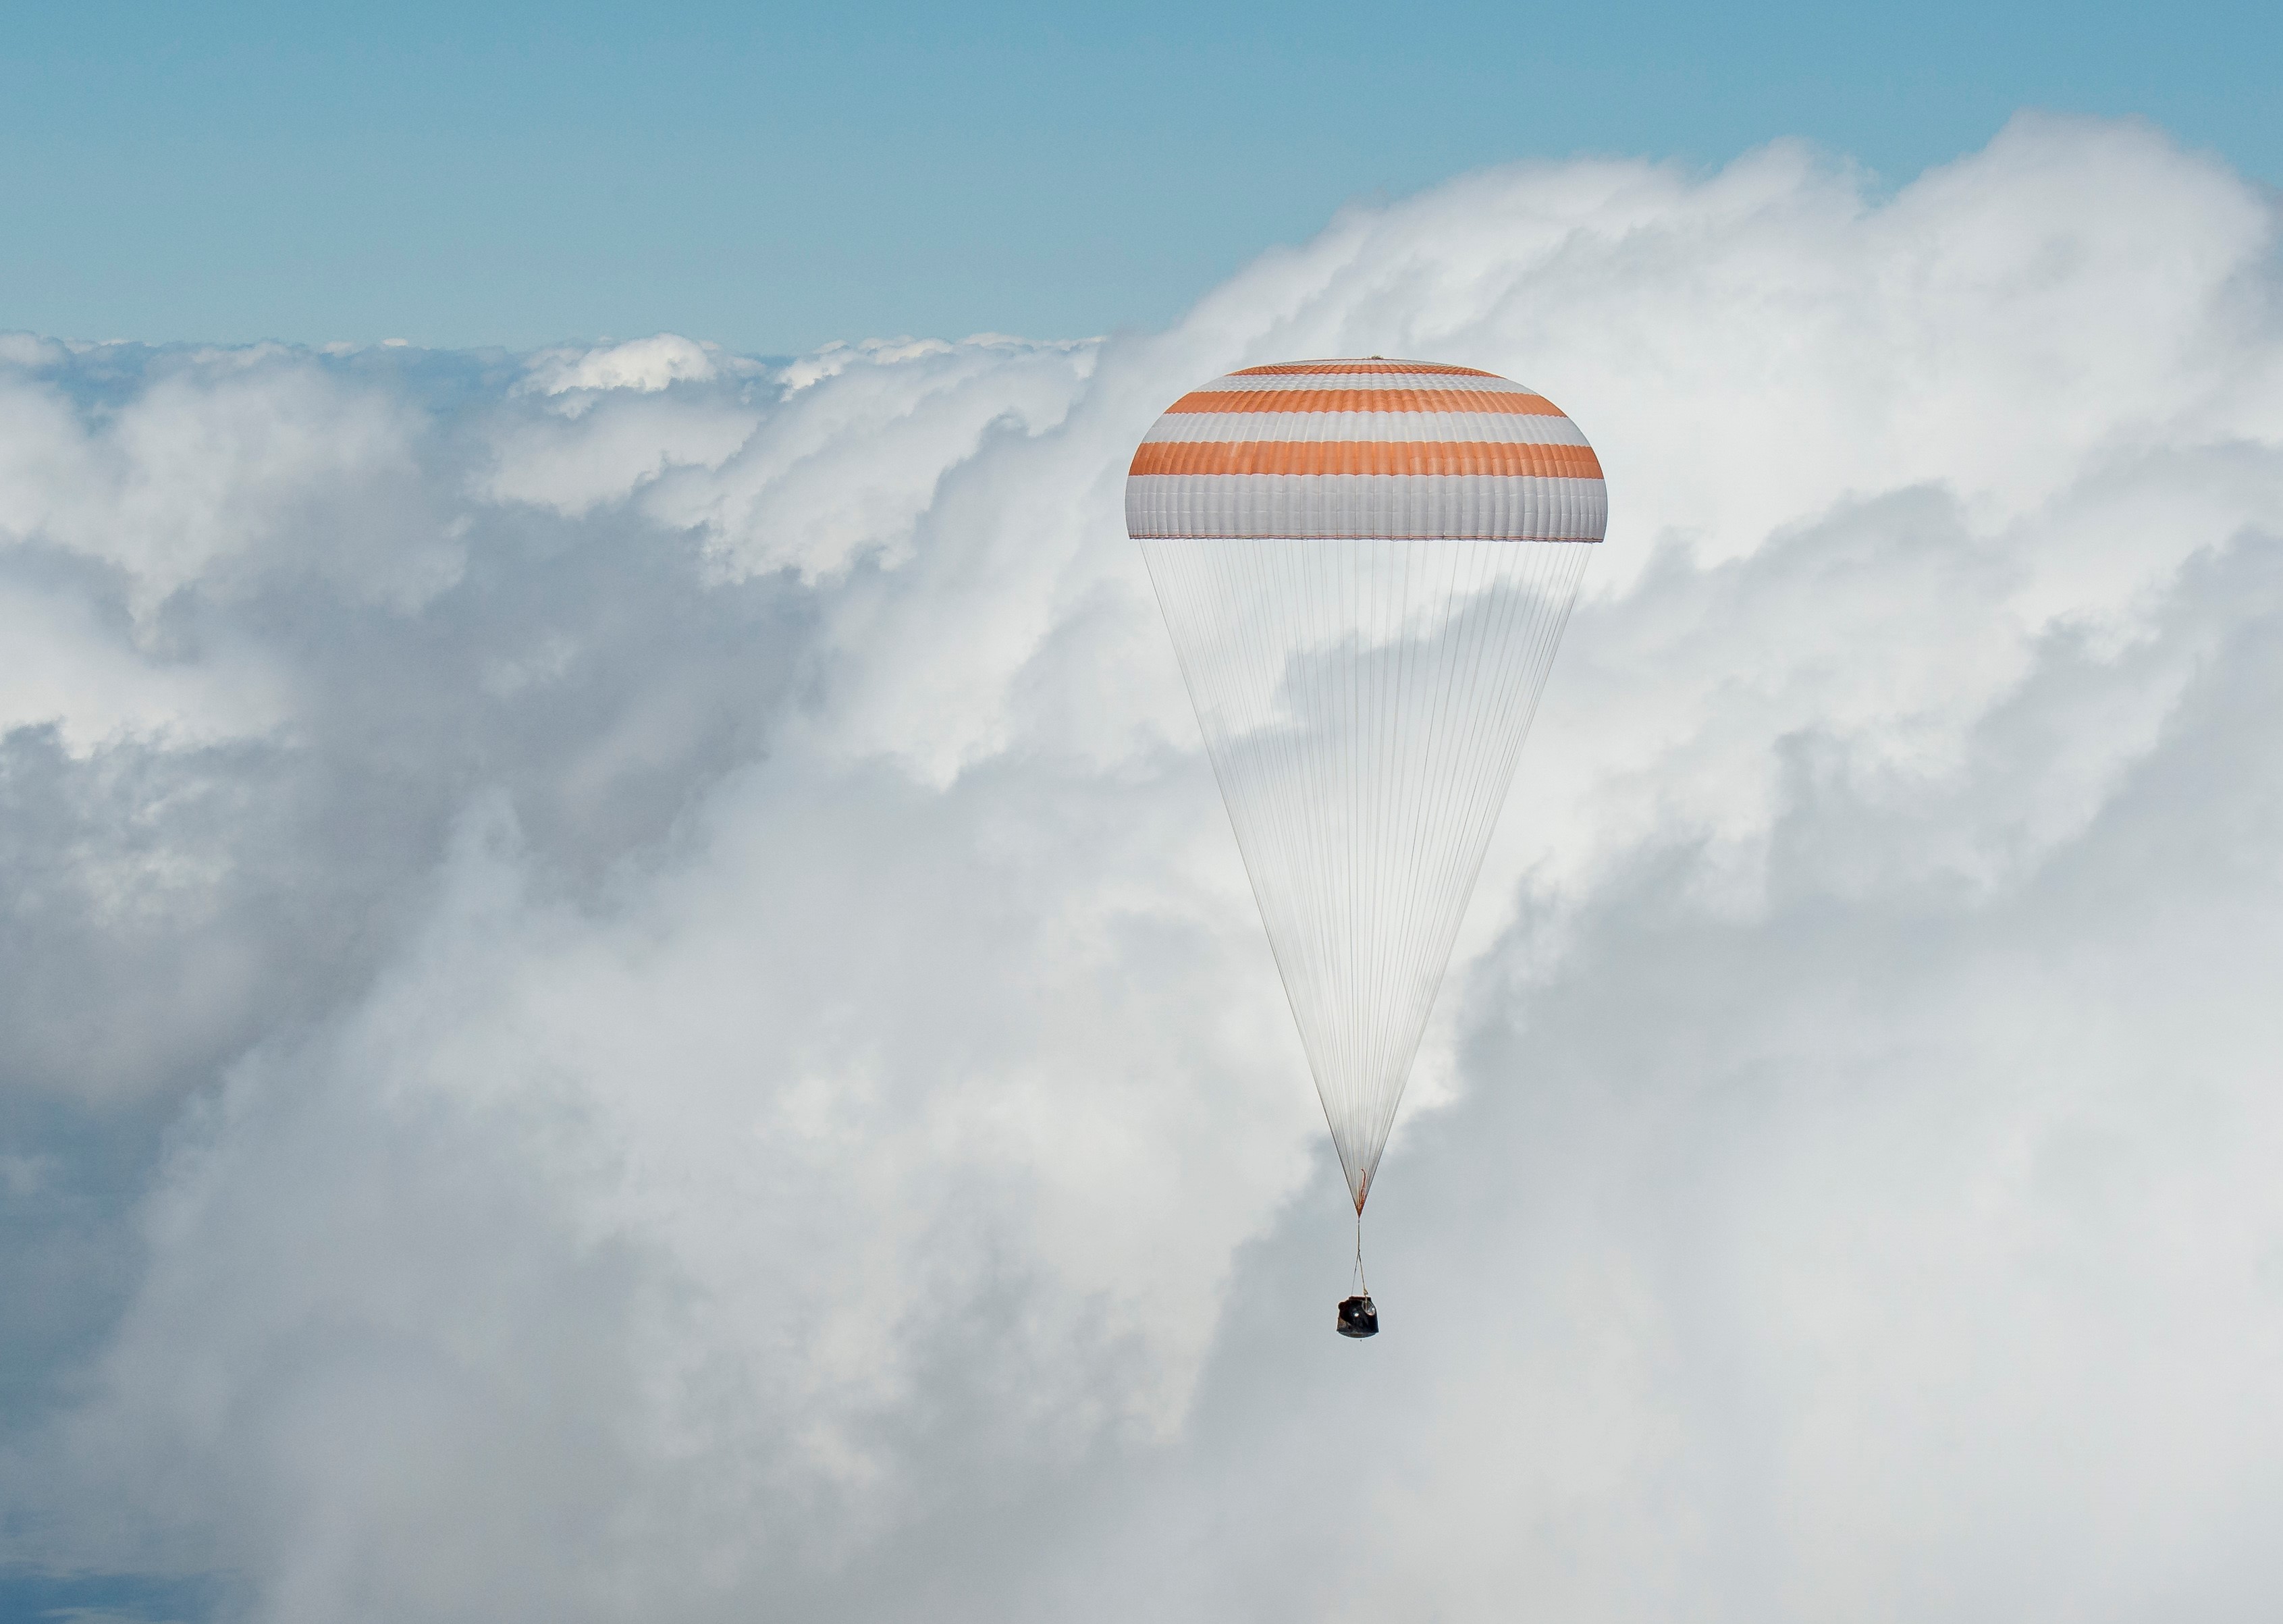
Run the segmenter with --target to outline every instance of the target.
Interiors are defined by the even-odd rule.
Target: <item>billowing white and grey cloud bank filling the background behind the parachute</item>
[[[256,1619],[2249,1615],[2274,233],[2023,119],[1893,196],[1491,171],[1078,345],[11,343],[5,1555]],[[1368,1345],[1119,525],[1167,400],[1356,352],[1612,480]]]

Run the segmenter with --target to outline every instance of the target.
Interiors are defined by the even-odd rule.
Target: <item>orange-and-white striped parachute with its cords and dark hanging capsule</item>
[[[1215,379],[1126,477],[1331,1142],[1363,1204],[1607,523],[1543,395],[1427,361]],[[1377,1332],[1370,1295],[1347,1336]],[[1365,1320],[1370,1329],[1365,1329]]]

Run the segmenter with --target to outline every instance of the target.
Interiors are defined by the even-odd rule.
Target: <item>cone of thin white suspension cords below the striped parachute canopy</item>
[[[1139,544],[1361,1213],[1594,541]]]

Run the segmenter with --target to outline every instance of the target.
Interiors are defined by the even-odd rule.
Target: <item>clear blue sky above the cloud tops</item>
[[[0,327],[537,345],[1157,327],[1349,199],[2020,107],[2283,176],[2276,9],[82,5],[0,23]]]

